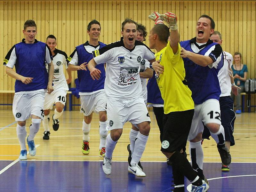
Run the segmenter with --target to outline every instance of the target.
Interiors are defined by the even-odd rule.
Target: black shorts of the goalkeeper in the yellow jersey
[[[173,153],[186,147],[193,115],[194,109],[164,115],[161,151]]]

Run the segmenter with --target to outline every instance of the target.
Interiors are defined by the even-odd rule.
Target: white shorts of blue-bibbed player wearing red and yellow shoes
[[[104,91],[96,92],[92,95],[80,95],[80,101],[80,112],[84,113],[84,116],[89,116],[92,112],[99,113],[107,110],[107,98]]]

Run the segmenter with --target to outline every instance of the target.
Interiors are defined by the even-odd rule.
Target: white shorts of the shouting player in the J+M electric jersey
[[[108,130],[123,129],[125,122],[150,122],[148,109],[142,96],[128,100],[107,99]]]

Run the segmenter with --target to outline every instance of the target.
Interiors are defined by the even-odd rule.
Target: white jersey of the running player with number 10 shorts
[[[54,53],[55,55],[53,56],[52,61],[54,65],[54,74],[52,80],[54,92],[60,89],[68,91],[68,84],[63,71],[63,67],[65,67],[65,69],[68,68],[68,64],[66,61],[68,56],[65,52],[60,51],[58,49],[56,49]]]

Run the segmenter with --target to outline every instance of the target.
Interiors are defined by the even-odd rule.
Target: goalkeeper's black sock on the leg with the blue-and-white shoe
[[[196,179],[196,172],[192,169],[188,159],[180,152],[175,152],[170,157],[170,160],[173,163],[173,167],[176,166],[179,172],[185,175],[185,177],[187,177],[190,182]]]

